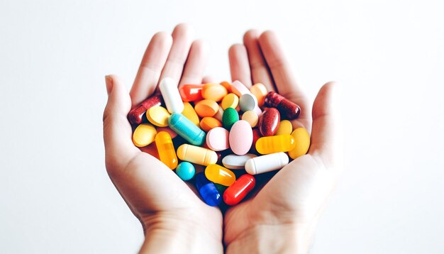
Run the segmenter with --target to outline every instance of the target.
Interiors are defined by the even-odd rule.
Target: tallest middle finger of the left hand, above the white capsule
[[[179,84],[179,79],[184,70],[184,64],[187,60],[189,49],[192,45],[192,28],[186,23],[181,23],[174,28],[172,32],[172,47],[168,55],[165,67],[163,67],[160,80],[165,77],[171,77]]]

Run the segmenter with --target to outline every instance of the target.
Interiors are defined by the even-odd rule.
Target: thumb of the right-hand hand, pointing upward
[[[342,158],[342,131],[340,128],[340,95],[338,84],[324,84],[313,103],[313,128],[309,154],[318,155],[329,165]]]

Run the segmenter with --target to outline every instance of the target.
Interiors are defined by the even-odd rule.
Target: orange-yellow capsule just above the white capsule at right
[[[279,135],[259,138],[256,141],[257,153],[267,155],[270,153],[288,152],[292,150],[296,144],[293,136]]]

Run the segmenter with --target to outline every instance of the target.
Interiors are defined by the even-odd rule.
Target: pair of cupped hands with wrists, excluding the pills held
[[[277,173],[257,175],[249,199],[226,211],[208,206],[192,184],[150,153],[133,145],[127,114],[150,96],[160,80],[213,82],[204,77],[209,46],[179,24],[152,36],[128,93],[116,75],[106,76],[104,111],[106,170],[133,214],[145,241],[140,253],[306,253],[316,224],[342,170],[338,84],[321,87],[313,106],[294,77],[272,31],[250,30],[228,51],[231,79],[265,84],[301,107],[294,128],[311,131],[309,152]],[[311,114],[310,114],[311,112]]]

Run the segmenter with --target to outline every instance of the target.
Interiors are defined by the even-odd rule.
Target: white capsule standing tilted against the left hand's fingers
[[[182,102],[182,97],[179,94],[179,89],[177,89],[177,83],[174,82],[174,79],[165,77],[165,79],[162,79],[160,82],[159,89],[168,112],[171,114],[180,114],[184,111],[184,103]]]

